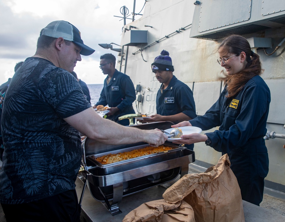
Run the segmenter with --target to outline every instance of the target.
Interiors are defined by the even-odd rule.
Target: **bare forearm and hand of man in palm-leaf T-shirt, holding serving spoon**
[[[105,144],[143,141],[157,147],[167,140],[167,136],[160,130],[140,130],[101,118],[92,107],[64,120],[87,137]]]

